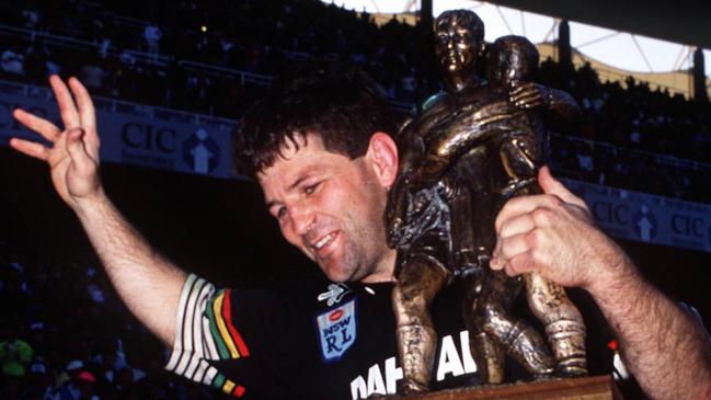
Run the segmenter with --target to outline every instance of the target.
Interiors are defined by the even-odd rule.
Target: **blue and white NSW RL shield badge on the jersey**
[[[316,317],[321,358],[324,363],[341,359],[356,340],[356,300],[332,308]]]

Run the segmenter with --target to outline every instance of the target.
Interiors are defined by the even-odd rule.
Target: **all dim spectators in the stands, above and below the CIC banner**
[[[0,79],[78,76],[101,96],[222,117],[239,117],[271,77],[312,58],[362,66],[400,103],[437,90],[413,26],[377,26],[317,0],[4,2],[0,24]],[[553,135],[563,175],[711,202],[709,104],[550,59],[537,80],[572,93],[585,115],[580,129]],[[0,241],[0,398],[221,398],[163,372],[162,346],[92,263],[48,266]]]

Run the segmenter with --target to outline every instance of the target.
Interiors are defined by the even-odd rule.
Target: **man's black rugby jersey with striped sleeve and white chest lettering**
[[[480,384],[461,318],[460,286],[443,289],[431,308],[438,333],[431,390]],[[167,369],[244,399],[395,393],[402,369],[392,287],[314,279],[274,292],[217,289],[191,275]],[[606,345],[611,338],[599,311],[589,312],[589,298],[571,298],[586,318],[590,374],[611,373],[613,353]],[[529,378],[513,361],[507,377]]]

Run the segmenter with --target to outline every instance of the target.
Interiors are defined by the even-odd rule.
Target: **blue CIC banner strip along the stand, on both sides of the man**
[[[240,179],[232,173],[236,122],[114,100],[95,99],[95,103],[102,161]],[[13,136],[42,141],[14,121],[16,107],[62,126],[47,88],[0,81],[0,146]],[[613,237],[711,252],[709,205],[563,181]]]

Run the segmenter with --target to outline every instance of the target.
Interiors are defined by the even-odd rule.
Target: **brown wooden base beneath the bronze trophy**
[[[412,396],[393,396],[398,400],[623,400],[611,376],[551,379],[526,384],[480,386],[440,390]]]

